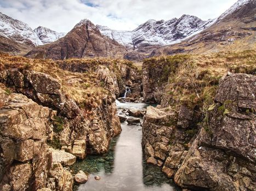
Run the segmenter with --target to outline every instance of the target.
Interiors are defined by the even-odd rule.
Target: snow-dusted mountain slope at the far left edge
[[[43,44],[29,25],[2,13],[0,13],[0,35],[22,44],[33,46]]]

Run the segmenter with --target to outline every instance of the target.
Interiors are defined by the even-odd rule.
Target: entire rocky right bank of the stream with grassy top
[[[160,166],[182,188],[255,188],[256,70],[253,62],[238,69],[236,62],[239,59],[244,62],[243,56],[234,56],[235,62],[229,57],[234,65],[228,68],[218,63],[218,70],[214,63],[209,65],[209,59],[205,64],[196,63],[195,58],[175,56],[158,60],[161,67],[153,73],[145,66],[143,79],[151,83],[144,87],[157,87],[154,83],[163,80],[162,76],[154,75],[156,71],[162,74],[176,67],[167,76],[162,91],[156,93],[144,88],[144,98],[161,105],[147,108],[142,145],[147,163]],[[184,70],[190,61],[196,65]],[[149,63],[149,60],[144,62]]]

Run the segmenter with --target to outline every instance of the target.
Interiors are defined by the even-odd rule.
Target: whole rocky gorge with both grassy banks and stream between
[[[145,161],[135,170],[136,189],[179,190],[173,180],[190,190],[254,190],[254,57],[158,57],[145,59],[141,71],[121,60],[2,55],[1,190],[72,190],[74,180],[118,190],[133,177],[120,171],[124,158],[127,171]],[[160,105],[145,110],[140,102]],[[130,181],[113,187],[119,177]]]

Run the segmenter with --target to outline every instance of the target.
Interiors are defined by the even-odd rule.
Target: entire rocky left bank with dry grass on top
[[[128,61],[7,55],[0,67],[1,190],[72,190],[68,166],[109,150],[122,130],[116,97],[140,83],[138,70]]]

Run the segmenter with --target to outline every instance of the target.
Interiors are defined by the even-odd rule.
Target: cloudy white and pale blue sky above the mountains
[[[0,0],[3,14],[28,23],[69,32],[82,19],[113,29],[132,30],[149,20],[183,14],[203,20],[224,13],[237,0]]]

